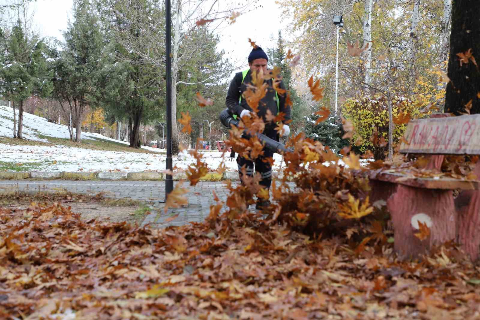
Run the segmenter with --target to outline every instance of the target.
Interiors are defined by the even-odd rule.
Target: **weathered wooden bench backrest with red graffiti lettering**
[[[480,154],[480,114],[410,121],[402,153]]]

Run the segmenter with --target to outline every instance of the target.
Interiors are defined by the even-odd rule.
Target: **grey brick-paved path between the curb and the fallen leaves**
[[[236,185],[238,182],[232,182]],[[174,182],[176,185],[177,182]],[[45,181],[0,181],[1,189],[15,189],[25,191],[70,191],[81,194],[97,194],[104,192],[108,197],[125,198],[130,197],[136,200],[153,201],[156,203],[152,214],[148,215],[142,225],[151,223],[156,227],[166,227],[168,225],[182,225],[188,222],[201,222],[210,213],[210,205],[215,204],[213,191],[222,200],[225,201],[228,196],[228,190],[223,182],[199,182],[195,186],[187,183],[183,185],[189,189],[186,194],[189,205],[186,208],[169,209],[165,214],[163,212],[165,201],[165,181],[65,181],[65,180],[45,180]],[[165,223],[169,217],[179,214],[178,218]]]

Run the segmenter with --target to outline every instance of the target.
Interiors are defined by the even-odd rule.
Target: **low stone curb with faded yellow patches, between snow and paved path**
[[[0,180],[105,180],[105,181],[163,181],[165,174],[160,172],[0,172]],[[187,179],[185,172],[173,176],[174,181]],[[238,172],[223,174],[208,172],[200,181],[240,180]]]

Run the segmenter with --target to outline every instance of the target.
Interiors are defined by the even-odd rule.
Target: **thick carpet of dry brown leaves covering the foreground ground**
[[[220,205],[220,203],[219,203]],[[212,206],[155,230],[82,222],[58,204],[0,209],[1,319],[472,319],[478,267],[446,244],[396,262],[379,223],[307,236]]]

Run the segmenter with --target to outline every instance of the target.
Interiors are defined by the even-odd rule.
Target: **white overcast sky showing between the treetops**
[[[34,20],[41,35],[62,39],[60,30],[65,30],[68,18],[72,18],[72,0],[36,0],[32,5],[35,6]],[[262,0],[262,8],[242,14],[232,25],[225,23],[218,49],[225,49],[226,57],[241,67],[247,64],[252,49],[248,38],[266,51],[273,45],[269,40],[271,34],[276,37],[281,29],[283,37],[287,37],[287,24],[275,0]]]

